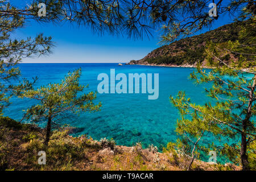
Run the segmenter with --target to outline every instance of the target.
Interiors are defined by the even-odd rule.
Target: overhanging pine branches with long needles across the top
[[[104,34],[127,35],[132,38],[151,36],[152,31],[160,30],[161,43],[191,35],[194,32],[210,27],[218,17],[225,13],[236,15],[243,13],[241,19],[254,15],[254,4],[251,0],[217,2],[218,16],[208,15],[209,1],[119,1],[119,0],[35,0],[19,8],[1,0],[5,9],[3,15],[16,15],[22,20],[34,19],[38,22],[71,22],[86,26],[92,31]],[[38,16],[38,4],[45,3],[47,14]],[[246,15],[246,16],[245,16]],[[179,19],[179,22],[177,22]],[[13,26],[15,23],[12,24]],[[20,26],[18,24],[18,26]]]

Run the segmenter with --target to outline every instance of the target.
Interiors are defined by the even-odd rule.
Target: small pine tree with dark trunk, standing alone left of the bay
[[[47,122],[45,144],[48,145],[51,134],[51,125],[61,115],[75,114],[81,111],[98,111],[101,103],[93,104],[96,99],[96,93],[79,94],[87,86],[79,84],[81,69],[69,72],[59,84],[48,84],[38,89],[25,90],[20,94],[20,98],[31,98],[38,100],[40,104],[33,105],[27,109],[24,116],[31,119],[32,122]],[[24,117],[24,118],[25,118]]]

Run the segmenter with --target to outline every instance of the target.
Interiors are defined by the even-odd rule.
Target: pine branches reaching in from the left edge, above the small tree
[[[24,79],[19,85],[12,85],[10,81],[20,76],[17,67],[24,57],[47,55],[51,52],[52,38],[38,34],[35,38],[12,39],[15,30],[24,27],[25,14],[18,13],[18,9],[6,0],[1,0],[0,17],[0,115],[3,107],[8,106],[9,99],[20,90],[29,89],[33,82]],[[10,13],[11,11],[11,13]],[[35,78],[36,80],[36,78]],[[34,80],[34,81],[35,81]]]

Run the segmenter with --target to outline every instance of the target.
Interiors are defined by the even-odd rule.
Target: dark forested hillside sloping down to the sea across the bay
[[[240,40],[239,31],[241,31],[239,23],[226,24],[204,34],[180,39],[169,45],[159,47],[148,53],[143,59],[131,60],[129,64],[195,65],[198,61],[204,61],[205,44],[210,40],[214,43],[227,42],[228,40],[247,42],[247,40]]]

